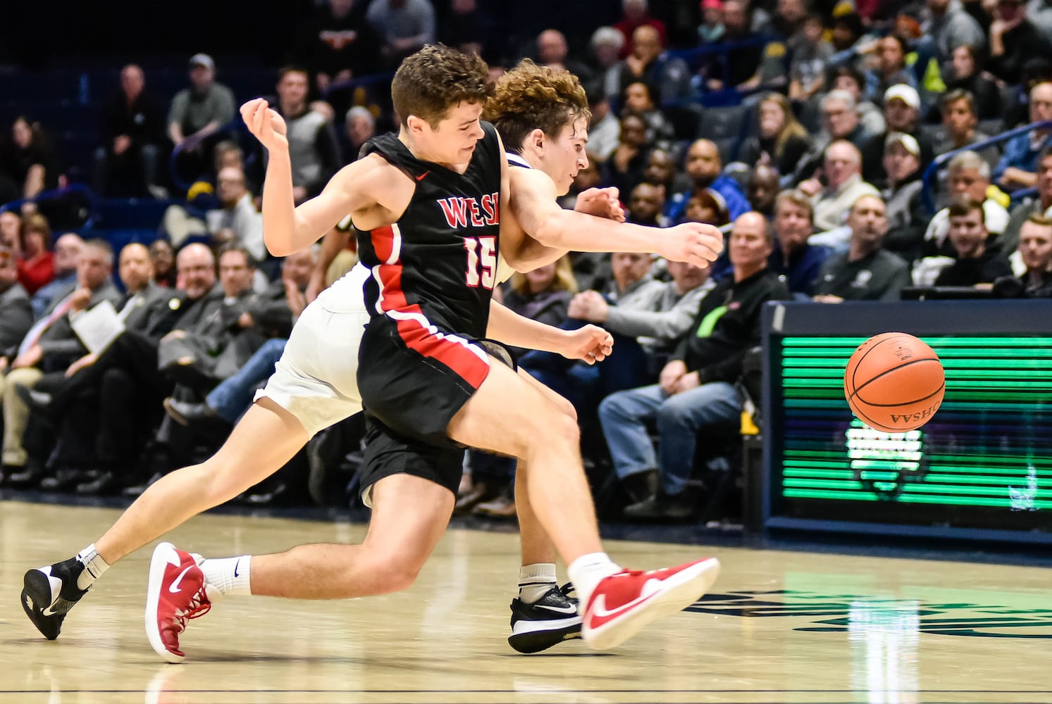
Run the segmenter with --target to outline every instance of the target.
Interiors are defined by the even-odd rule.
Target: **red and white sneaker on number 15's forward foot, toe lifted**
[[[610,575],[585,604],[581,637],[596,650],[616,647],[654,619],[694,603],[719,576],[720,560],[714,557],[679,567]]]

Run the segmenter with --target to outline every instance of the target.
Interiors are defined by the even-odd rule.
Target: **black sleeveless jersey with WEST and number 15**
[[[365,285],[370,314],[467,337],[486,336],[497,276],[501,149],[497,130],[482,123],[464,173],[425,162],[388,133],[369,140],[373,151],[417,181],[398,222],[358,235],[358,254],[372,272]],[[436,331],[432,331],[432,334]]]

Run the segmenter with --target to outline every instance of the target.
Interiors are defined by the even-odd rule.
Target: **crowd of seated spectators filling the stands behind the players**
[[[619,489],[624,516],[683,520],[705,493],[697,470],[711,449],[696,439],[736,437],[758,395],[744,370],[763,303],[898,301],[933,287],[1052,296],[1052,127],[985,143],[1052,121],[1050,7],[624,0],[620,20],[568,39],[552,26],[526,36],[528,23],[502,37],[485,0],[319,0],[290,34],[271,104],[288,125],[300,203],[396,124],[384,78],[425,43],[478,51],[494,76],[530,57],[581,77],[589,165],[564,205],[615,186],[630,222],[706,222],[728,246],[708,270],[571,254],[501,295],[534,319],[615,336],[595,367],[525,350],[520,361],[573,402],[591,478]],[[6,485],[135,493],[159,447],[175,465],[186,457],[174,449],[214,446],[320,282],[353,261],[352,244],[332,270],[332,247],[267,255],[265,153],[231,126],[251,96],[224,85],[221,68],[195,54],[165,109],[127,64],[104,105],[92,186],[166,201],[148,249],[115,252],[90,232],[53,242],[34,198],[63,185],[61,154],[27,116],[0,140],[0,201],[19,202],[0,211]],[[349,437],[340,456],[357,449]],[[458,510],[513,516],[513,464],[470,458]]]

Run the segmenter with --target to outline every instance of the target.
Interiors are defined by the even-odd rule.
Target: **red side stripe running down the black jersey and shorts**
[[[387,262],[394,246],[394,232],[390,227],[372,230],[370,233],[372,248],[382,262]],[[398,327],[399,337],[410,350],[416,350],[424,357],[434,359],[451,369],[458,376],[478,389],[489,374],[489,365],[474,352],[461,343],[446,339],[442,333],[432,333],[425,326],[427,317],[420,306],[405,297],[402,290],[402,264],[381,264],[375,269],[380,278],[380,308],[391,315]],[[406,318],[404,316],[413,317]]]

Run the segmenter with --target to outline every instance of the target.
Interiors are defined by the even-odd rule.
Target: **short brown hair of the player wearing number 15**
[[[485,103],[492,90],[485,61],[445,44],[428,44],[402,61],[391,81],[391,102],[403,125],[414,115],[434,127],[450,107]]]

